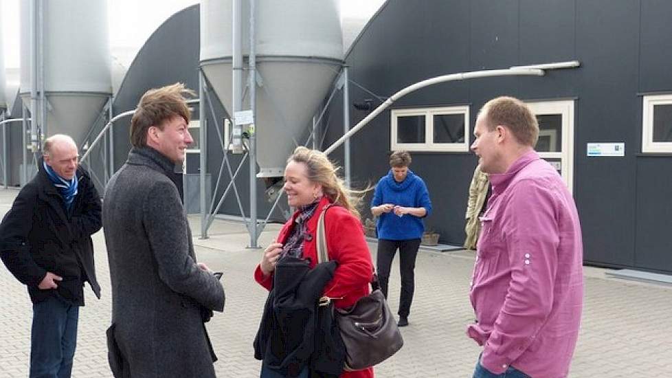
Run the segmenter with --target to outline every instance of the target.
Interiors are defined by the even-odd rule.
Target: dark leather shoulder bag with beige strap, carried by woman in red
[[[324,214],[317,221],[317,262],[328,261]],[[335,318],[346,347],[344,369],[362,370],[380,364],[403,346],[403,337],[388,307],[383,292],[378,287],[377,276],[371,281],[373,291],[359,298],[350,309],[335,309]]]

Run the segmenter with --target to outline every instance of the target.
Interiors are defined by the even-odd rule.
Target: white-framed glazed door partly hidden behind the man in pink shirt
[[[552,164],[572,192],[574,171],[574,101],[527,102],[539,122],[535,150]]]

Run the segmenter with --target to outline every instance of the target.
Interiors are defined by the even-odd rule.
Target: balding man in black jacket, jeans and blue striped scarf
[[[91,234],[101,203],[67,135],[47,138],[38,173],[0,224],[0,257],[33,302],[30,377],[70,377],[84,282],[100,299]]]

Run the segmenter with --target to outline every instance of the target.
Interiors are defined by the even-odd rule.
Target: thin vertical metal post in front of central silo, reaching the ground
[[[257,159],[256,159],[256,49],[255,49],[255,12],[256,0],[249,0],[249,109],[254,122],[249,129],[249,247],[258,248],[257,239]]]

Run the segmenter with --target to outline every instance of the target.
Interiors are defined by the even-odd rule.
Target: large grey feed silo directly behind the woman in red
[[[229,114],[232,3],[201,1],[201,67]],[[257,0],[254,16],[258,177],[280,177],[296,143],[304,142],[300,138],[342,64],[339,6],[337,0]],[[243,1],[245,57],[249,55],[248,19],[249,2]]]

